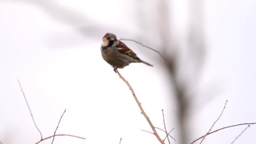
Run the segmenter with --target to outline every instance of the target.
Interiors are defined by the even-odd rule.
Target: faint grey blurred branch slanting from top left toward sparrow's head
[[[68,24],[77,30],[77,32],[93,38],[101,37],[103,33],[106,33],[106,29],[114,32],[122,32],[126,35],[134,35],[122,28],[118,29],[117,27],[112,27],[111,25],[107,26],[105,23],[97,22],[83,13],[68,8],[67,6],[62,6],[56,0],[0,0],[0,2],[24,2],[34,4],[48,13],[53,20],[61,22],[62,24]],[[88,5],[89,4],[88,2]]]

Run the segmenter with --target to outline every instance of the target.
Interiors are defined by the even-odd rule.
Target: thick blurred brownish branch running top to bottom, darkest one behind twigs
[[[160,0],[159,3],[156,5],[157,8],[157,15],[156,21],[158,21],[156,29],[161,40],[160,48],[164,54],[165,58],[165,67],[168,70],[168,78],[170,82],[170,89],[174,89],[173,95],[176,98],[176,109],[178,109],[178,122],[179,122],[179,136],[180,136],[180,144],[187,144],[187,139],[189,136],[189,128],[187,128],[187,114],[188,114],[188,107],[190,106],[191,101],[187,100],[187,84],[186,82],[181,82],[176,75],[179,68],[181,67],[178,65],[179,60],[179,51],[181,46],[178,45],[175,41],[175,37],[172,36],[174,34],[175,28],[173,27],[173,23],[171,21],[171,1],[170,0]],[[179,66],[179,67],[178,67]],[[185,71],[185,70],[184,70]],[[189,73],[186,69],[185,73]]]

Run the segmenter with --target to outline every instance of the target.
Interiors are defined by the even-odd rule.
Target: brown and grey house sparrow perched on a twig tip
[[[152,64],[139,59],[136,53],[123,42],[117,40],[117,37],[112,33],[107,33],[102,37],[101,55],[107,63],[114,67],[114,71],[135,62],[142,62],[153,67]]]

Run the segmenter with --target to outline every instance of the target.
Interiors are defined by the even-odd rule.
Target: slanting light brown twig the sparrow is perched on
[[[131,85],[128,83],[127,80],[125,80],[125,78],[123,78],[123,76],[118,72],[117,69],[114,69],[115,72],[117,72],[117,74],[119,75],[119,77],[126,83],[126,85],[129,87],[129,89],[131,90],[131,93],[133,94],[133,97],[137,103],[137,105],[139,106],[139,109],[141,110],[141,114],[144,115],[144,117],[146,118],[147,122],[149,123],[152,131],[154,132],[154,135],[157,137],[158,141],[160,141],[161,144],[164,144],[164,141],[163,139],[160,138],[160,136],[158,135],[157,131],[155,130],[155,127],[154,125],[151,123],[151,121],[149,120],[149,117],[147,116],[147,114],[144,112],[144,110],[142,109],[141,107],[141,103],[139,102],[139,100],[137,99],[134,91],[133,91],[133,88],[131,87]]]

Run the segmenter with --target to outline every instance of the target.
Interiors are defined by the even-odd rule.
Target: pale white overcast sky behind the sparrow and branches
[[[143,8],[154,11],[155,3],[149,0]],[[175,26],[182,33],[187,3],[186,0],[175,3]],[[155,35],[150,35],[151,40],[144,36],[145,29],[154,22],[145,23],[141,29],[137,5],[130,0],[0,0],[3,144],[33,144],[40,140],[17,79],[43,137],[53,135],[66,108],[57,133],[86,138],[56,137],[55,144],[118,144],[120,137],[122,144],[158,143],[152,134],[141,131],[150,131],[147,121],[125,83],[100,53],[101,37],[106,32],[115,33],[117,38],[139,38],[146,45],[156,45],[151,41]],[[208,131],[226,100],[229,102],[224,114],[213,130],[256,122],[256,1],[206,0],[204,17],[207,56],[200,91],[189,111],[188,131],[193,132],[189,141]],[[171,143],[179,144],[177,110],[160,58],[139,45],[125,43],[154,67],[131,64],[120,69],[120,73],[132,85],[156,127],[163,128],[161,109],[165,110],[168,131],[175,128],[171,135],[177,141]],[[219,131],[208,136],[204,143],[230,143],[245,127]],[[255,144],[255,133],[256,125],[251,125],[236,144]]]

